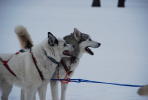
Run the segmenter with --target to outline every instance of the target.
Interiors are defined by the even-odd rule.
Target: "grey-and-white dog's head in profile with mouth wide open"
[[[74,28],[74,32],[68,36],[64,37],[64,40],[73,45],[75,48],[79,47],[82,52],[87,52],[90,55],[94,55],[91,48],[100,47],[100,43],[93,41],[88,34],[80,32],[78,29]]]

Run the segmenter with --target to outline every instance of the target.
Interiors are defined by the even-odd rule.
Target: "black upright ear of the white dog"
[[[48,32],[48,44],[50,46],[54,46],[55,44],[59,44],[57,38],[51,33],[51,32]]]

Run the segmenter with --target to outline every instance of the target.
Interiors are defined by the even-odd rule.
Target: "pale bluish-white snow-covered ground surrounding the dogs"
[[[48,31],[63,37],[77,27],[102,45],[94,56],[82,57],[73,78],[148,84],[148,1],[126,1],[126,8],[117,8],[117,0],[102,0],[101,8],[91,8],[92,0],[1,0],[0,53],[19,50],[17,25],[28,28],[35,44]],[[137,89],[71,83],[67,100],[148,100],[138,96]],[[10,100],[19,100],[19,94],[15,87]]]

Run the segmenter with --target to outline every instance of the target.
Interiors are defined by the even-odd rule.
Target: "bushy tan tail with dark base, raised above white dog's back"
[[[22,49],[30,49],[33,46],[32,39],[24,26],[17,26],[15,33],[18,36]]]

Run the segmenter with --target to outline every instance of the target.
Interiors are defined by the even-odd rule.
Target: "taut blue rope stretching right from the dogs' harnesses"
[[[98,84],[108,84],[108,85],[117,85],[117,86],[127,86],[127,87],[143,87],[144,85],[132,85],[132,84],[120,84],[120,83],[110,83],[110,82],[100,82],[100,81],[91,81],[85,79],[51,79],[53,81],[68,81],[75,83],[98,83]]]

